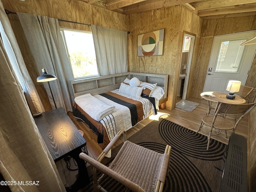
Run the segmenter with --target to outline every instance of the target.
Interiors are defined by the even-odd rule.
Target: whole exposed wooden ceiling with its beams
[[[79,0],[125,15],[184,5],[203,19],[256,15],[256,0]]]

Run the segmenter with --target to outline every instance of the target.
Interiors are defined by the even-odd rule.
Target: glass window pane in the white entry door
[[[238,72],[244,48],[240,46],[246,40],[222,41],[218,53],[215,72]]]

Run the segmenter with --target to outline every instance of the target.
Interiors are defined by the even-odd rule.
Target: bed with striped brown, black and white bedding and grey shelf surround
[[[129,85],[134,79],[140,81],[140,86]],[[98,135],[97,142],[105,148],[119,130],[128,130],[156,114],[158,106],[164,108],[167,82],[168,75],[135,72],[73,80],[73,115]],[[161,90],[162,94],[158,94]]]

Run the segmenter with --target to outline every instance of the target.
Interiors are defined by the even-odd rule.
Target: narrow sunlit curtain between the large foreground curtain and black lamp
[[[14,33],[12,31],[10,21],[8,20],[8,17],[6,16],[6,13],[4,11],[2,2],[0,2],[0,21],[2,24],[1,36],[4,42],[5,49],[8,52],[8,57],[12,61],[12,65],[15,68],[16,76],[20,82],[20,86],[22,86],[24,94],[26,95],[30,110],[32,114],[36,112],[44,112],[44,107],[38,96],[33,81],[28,74],[28,70],[22,58],[22,54],[20,52],[20,48],[18,46]]]

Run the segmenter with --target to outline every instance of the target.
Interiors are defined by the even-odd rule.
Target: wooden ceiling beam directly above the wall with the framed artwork
[[[145,2],[140,2],[123,9],[123,13],[134,14],[138,12],[144,12],[148,10],[160,9],[164,7],[177,6],[186,3],[196,2],[199,0],[147,0]]]

